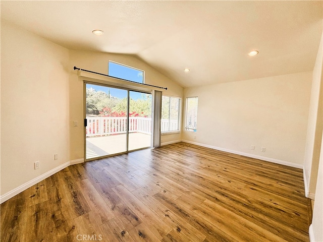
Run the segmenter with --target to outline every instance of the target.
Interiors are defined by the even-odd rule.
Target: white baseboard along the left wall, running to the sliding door
[[[72,160],[72,161],[68,161],[56,168],[53,168],[39,176],[37,176],[36,178],[27,181],[27,183],[19,186],[18,188],[15,188],[13,190],[11,190],[8,193],[5,193],[4,195],[2,195],[0,197],[0,204],[2,204],[3,202],[6,202],[7,200],[11,199],[12,197],[16,196],[17,194],[25,191],[26,189],[34,186],[35,184],[39,183],[39,181],[42,181],[43,179],[46,179],[47,177],[55,174],[56,172],[59,172],[60,170],[63,170],[64,168],[70,166],[70,165],[74,165],[74,164],[78,164],[78,163],[82,163],[84,162],[84,159],[77,159],[77,160]]]

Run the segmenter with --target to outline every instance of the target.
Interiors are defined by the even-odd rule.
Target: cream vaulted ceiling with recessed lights
[[[1,1],[1,18],[69,49],[134,54],[192,87],[312,71],[323,1]]]

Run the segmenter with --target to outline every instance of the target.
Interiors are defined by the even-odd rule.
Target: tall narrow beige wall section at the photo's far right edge
[[[304,156],[304,181],[306,196],[314,198],[318,160],[323,129],[323,35],[313,70],[311,99],[309,106],[306,148]]]

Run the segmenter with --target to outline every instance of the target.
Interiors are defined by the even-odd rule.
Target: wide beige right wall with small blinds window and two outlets
[[[311,79],[306,72],[186,88],[185,98],[199,98],[197,132],[182,138],[302,167]]]

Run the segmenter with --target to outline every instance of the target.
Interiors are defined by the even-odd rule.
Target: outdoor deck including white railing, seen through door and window
[[[86,119],[86,159],[125,152],[127,130],[128,150],[151,146],[150,117],[86,116]],[[161,119],[160,125],[162,131],[176,129],[178,120]]]

